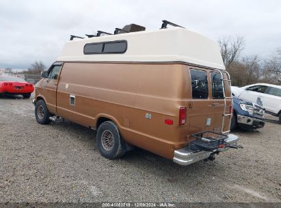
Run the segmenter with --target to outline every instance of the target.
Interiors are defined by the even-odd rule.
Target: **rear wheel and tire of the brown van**
[[[105,121],[96,133],[98,151],[107,159],[116,159],[124,155],[124,140],[122,140],[118,127],[112,121]]]

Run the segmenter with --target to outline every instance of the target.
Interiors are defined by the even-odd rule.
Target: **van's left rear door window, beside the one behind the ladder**
[[[190,70],[193,99],[208,98],[208,79],[205,71]]]

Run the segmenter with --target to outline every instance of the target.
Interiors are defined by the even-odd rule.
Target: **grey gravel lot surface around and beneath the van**
[[[101,157],[95,132],[72,122],[39,125],[32,99],[0,99],[2,202],[281,202],[281,126],[237,130],[239,150],[179,166],[136,149]]]

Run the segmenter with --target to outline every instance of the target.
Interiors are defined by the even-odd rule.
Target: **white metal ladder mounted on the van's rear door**
[[[227,131],[224,131],[224,122],[225,122],[225,118],[226,116],[232,116],[232,110],[230,112],[230,114],[227,112],[227,107],[226,107],[226,101],[231,101],[231,106],[233,107],[233,99],[232,99],[232,96],[231,96],[231,92],[230,92],[230,96],[226,96],[226,90],[224,88],[224,82],[227,81],[228,84],[229,84],[229,88],[231,90],[231,79],[230,79],[230,75],[227,71],[224,71],[222,72],[222,70],[218,70],[218,69],[215,69],[214,71],[217,71],[219,72],[219,74],[222,76],[222,91],[224,92],[224,114],[222,114],[222,130],[221,130],[221,133],[228,133],[230,132],[230,125],[229,125],[229,128]],[[224,73],[226,73],[226,78],[227,79],[224,79]],[[231,121],[230,121],[231,122]]]

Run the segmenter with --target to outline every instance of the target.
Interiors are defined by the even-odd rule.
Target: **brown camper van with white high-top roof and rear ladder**
[[[40,124],[65,118],[96,129],[109,159],[138,146],[189,165],[239,147],[215,42],[182,27],[74,37],[36,84]]]

